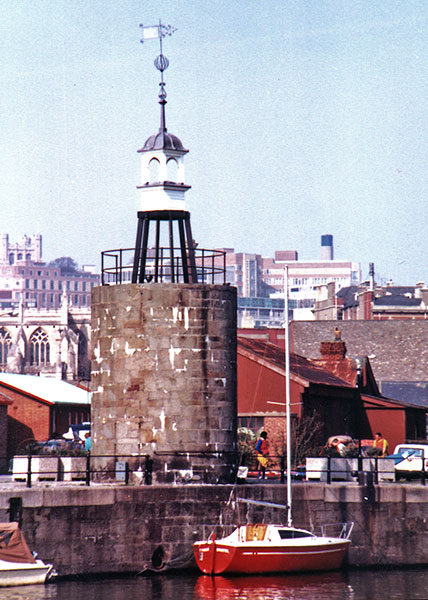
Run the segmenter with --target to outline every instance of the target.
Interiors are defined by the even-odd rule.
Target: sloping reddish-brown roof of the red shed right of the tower
[[[263,340],[255,340],[251,338],[242,338],[238,336],[238,350],[242,348],[251,352],[256,357],[266,360],[276,367],[285,370],[285,353],[284,350]],[[335,387],[352,387],[343,379],[339,379],[325,369],[313,364],[307,358],[298,354],[290,353],[290,372],[294,375],[302,377],[311,383],[322,385],[330,385]]]

